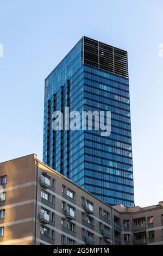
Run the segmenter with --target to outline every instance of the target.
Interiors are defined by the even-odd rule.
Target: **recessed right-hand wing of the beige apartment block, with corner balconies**
[[[123,245],[163,245],[163,202],[141,208],[116,205]]]

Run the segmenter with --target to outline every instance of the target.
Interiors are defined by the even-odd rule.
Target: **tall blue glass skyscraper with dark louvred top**
[[[53,112],[111,111],[111,134],[53,129]],[[83,36],[45,80],[43,162],[104,202],[134,205],[127,52]]]

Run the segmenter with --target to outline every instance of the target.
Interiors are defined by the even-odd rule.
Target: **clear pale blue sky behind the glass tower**
[[[83,36],[128,51],[135,204],[163,200],[162,0],[0,0],[0,162],[42,160],[45,77]]]

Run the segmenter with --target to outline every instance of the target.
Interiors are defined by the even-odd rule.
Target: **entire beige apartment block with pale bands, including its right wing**
[[[110,206],[37,159],[0,163],[0,245],[163,245],[163,202]]]

